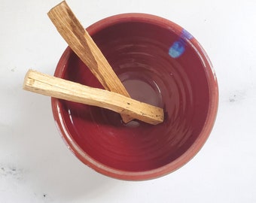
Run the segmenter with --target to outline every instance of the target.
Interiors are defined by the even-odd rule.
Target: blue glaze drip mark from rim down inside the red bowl
[[[169,56],[172,58],[178,58],[181,56],[185,51],[185,43],[184,41],[192,39],[193,36],[187,32],[185,29],[181,32],[181,37],[178,39],[178,41],[175,41],[172,46],[169,48]]]

